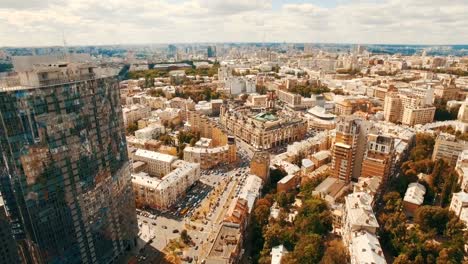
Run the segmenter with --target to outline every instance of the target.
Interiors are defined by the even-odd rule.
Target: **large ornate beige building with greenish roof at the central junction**
[[[267,150],[302,140],[307,121],[294,112],[255,112],[249,107],[221,106],[220,122],[234,136],[256,149]]]

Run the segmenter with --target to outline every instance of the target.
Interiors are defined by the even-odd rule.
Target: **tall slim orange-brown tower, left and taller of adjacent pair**
[[[359,178],[367,130],[367,122],[359,118],[353,116],[339,118],[335,144],[332,147],[332,171],[341,181],[349,183]]]

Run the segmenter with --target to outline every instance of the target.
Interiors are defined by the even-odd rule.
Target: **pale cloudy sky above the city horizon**
[[[0,47],[468,44],[468,0],[0,0]]]

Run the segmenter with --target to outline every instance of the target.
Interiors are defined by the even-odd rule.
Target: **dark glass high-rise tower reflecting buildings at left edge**
[[[0,191],[33,263],[112,263],[136,242],[118,83],[82,60],[14,58],[0,82]]]

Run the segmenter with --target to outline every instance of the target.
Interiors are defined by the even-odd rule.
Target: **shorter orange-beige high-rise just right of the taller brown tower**
[[[390,136],[371,133],[367,136],[367,149],[362,162],[361,177],[380,177],[386,183],[393,170],[394,139]]]

